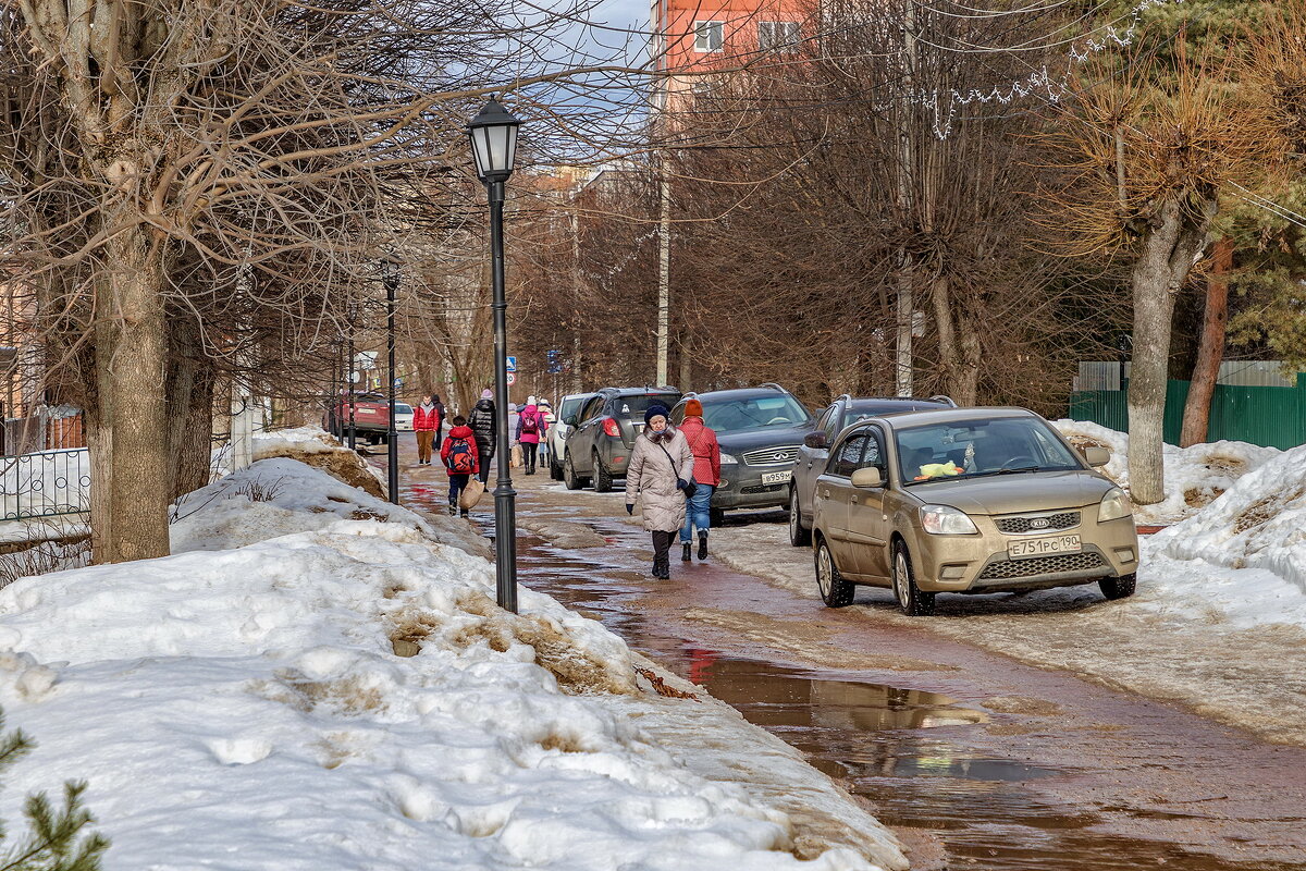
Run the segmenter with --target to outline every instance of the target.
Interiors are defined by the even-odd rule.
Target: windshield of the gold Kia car
[[[1079,458],[1037,418],[973,418],[899,430],[906,484],[947,478],[1066,471]]]

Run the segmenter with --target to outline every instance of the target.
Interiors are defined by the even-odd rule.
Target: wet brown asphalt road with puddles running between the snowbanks
[[[441,470],[411,466],[411,436],[401,444],[405,504],[441,509]],[[895,829],[913,868],[1306,870],[1306,750],[922,624],[831,611],[710,556],[673,554],[671,580],[654,581],[619,496],[513,474],[522,584],[801,750]],[[474,517],[487,534],[491,512],[487,494]],[[605,545],[526,529],[559,521]]]

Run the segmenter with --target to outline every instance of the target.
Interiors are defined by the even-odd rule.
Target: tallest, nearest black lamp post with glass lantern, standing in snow
[[[508,473],[508,302],[503,287],[503,185],[517,157],[517,125],[499,101],[490,98],[468,124],[477,176],[490,198],[490,281],[494,290],[494,380],[498,418],[499,478],[494,490],[495,586],[499,607],[517,612],[517,491]]]

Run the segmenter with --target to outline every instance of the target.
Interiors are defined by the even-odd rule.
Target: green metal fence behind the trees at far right
[[[1070,396],[1070,418],[1091,420],[1111,430],[1130,426],[1126,390],[1077,390]],[[1179,444],[1188,383],[1171,380],[1165,392],[1165,440]],[[1306,373],[1297,387],[1217,384],[1211,397],[1207,441],[1229,439],[1275,448],[1306,444]]]

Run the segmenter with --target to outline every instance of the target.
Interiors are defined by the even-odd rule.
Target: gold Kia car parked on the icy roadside
[[[1025,409],[910,411],[838,435],[812,496],[816,582],[829,607],[858,584],[893,589],[902,611],[936,593],[1097,582],[1134,593],[1138,531],[1124,491]]]

